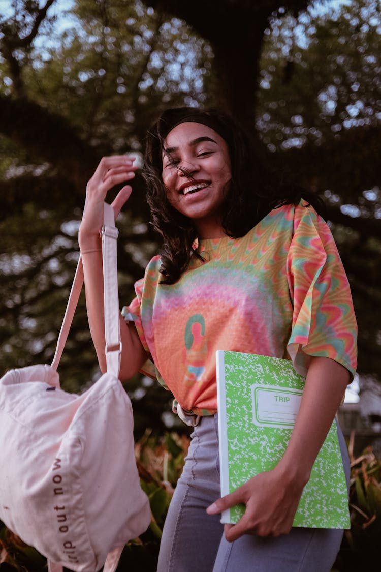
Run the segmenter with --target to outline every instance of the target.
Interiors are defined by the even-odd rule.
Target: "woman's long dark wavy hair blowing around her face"
[[[226,113],[218,109],[199,110],[191,108],[168,109],[147,132],[145,158],[142,174],[147,185],[147,202],[151,209],[151,224],[161,235],[163,244],[159,250],[163,284],[174,284],[187,268],[192,256],[202,257],[194,248],[197,238],[191,219],[178,212],[167,198],[162,180],[163,142],[180,122],[191,117],[191,121],[216,125],[215,130],[223,134],[231,162],[231,181],[224,189],[223,231],[232,238],[247,234],[270,210],[284,204],[298,204],[306,198],[318,212],[322,213],[322,200],[296,186],[271,185],[268,175],[262,173],[261,162],[255,160],[252,145],[241,128]],[[192,176],[182,170],[190,180]]]

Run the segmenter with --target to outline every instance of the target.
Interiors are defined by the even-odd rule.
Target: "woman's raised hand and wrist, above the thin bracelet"
[[[135,157],[129,155],[113,155],[103,157],[95,170],[93,177],[87,183],[85,208],[81,226],[79,227],[79,245],[81,249],[99,246],[99,229],[103,224],[103,202],[107,192],[113,186],[124,181],[130,181],[135,177]],[[130,197],[132,188],[130,185],[123,186],[112,205],[115,218],[122,206]]]

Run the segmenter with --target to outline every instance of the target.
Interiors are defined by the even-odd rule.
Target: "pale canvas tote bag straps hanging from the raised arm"
[[[121,364],[121,329],[119,324],[118,274],[117,274],[117,237],[115,228],[114,209],[106,202],[103,209],[102,233],[102,259],[103,259],[103,295],[105,298],[105,338],[107,371],[115,377],[119,376]],[[65,348],[67,336],[73,321],[75,308],[77,308],[79,295],[83,285],[83,265],[79,257],[77,270],[67,301],[65,316],[59,332],[57,348],[51,367],[57,370]]]

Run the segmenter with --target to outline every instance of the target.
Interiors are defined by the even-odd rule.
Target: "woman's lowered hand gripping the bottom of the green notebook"
[[[224,526],[226,540],[232,542],[243,534],[277,537],[290,532],[304,484],[288,479],[276,466],[218,499],[207,508],[207,513],[217,514],[243,503],[243,517],[235,525]]]

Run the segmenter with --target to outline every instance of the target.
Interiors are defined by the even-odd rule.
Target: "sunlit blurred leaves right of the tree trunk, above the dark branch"
[[[345,130],[379,124],[379,2],[356,0],[323,14],[310,7],[272,17],[267,31],[257,126],[270,151],[320,147]]]

